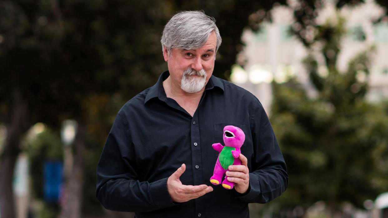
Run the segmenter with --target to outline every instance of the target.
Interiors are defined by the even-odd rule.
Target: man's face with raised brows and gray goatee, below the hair
[[[197,93],[204,89],[213,74],[217,38],[211,33],[208,41],[195,50],[172,49],[168,56],[164,48],[163,56],[168,64],[172,86],[187,93]]]

